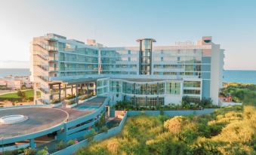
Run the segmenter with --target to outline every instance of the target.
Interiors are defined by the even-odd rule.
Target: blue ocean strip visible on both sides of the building
[[[8,75],[29,76],[29,68],[0,68],[0,77]],[[256,71],[225,70],[224,82],[256,84]]]

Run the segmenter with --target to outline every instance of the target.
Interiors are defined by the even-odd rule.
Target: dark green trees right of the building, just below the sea
[[[234,102],[242,102],[243,105],[256,105],[256,85],[255,84],[226,84],[221,89],[220,95],[231,95]]]

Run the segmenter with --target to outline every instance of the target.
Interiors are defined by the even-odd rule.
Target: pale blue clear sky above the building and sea
[[[1,0],[0,68],[28,66],[29,41],[48,32],[108,47],[211,35],[226,50],[226,69],[256,70],[255,0]]]

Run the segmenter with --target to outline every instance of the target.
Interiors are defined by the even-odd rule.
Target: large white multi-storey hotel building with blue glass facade
[[[47,34],[33,38],[31,71],[35,104],[62,102],[66,96],[110,96],[111,104],[179,104],[183,96],[211,98],[218,104],[224,50],[211,37],[197,44],[154,46],[153,38],[135,47],[104,47],[94,40],[69,40]]]

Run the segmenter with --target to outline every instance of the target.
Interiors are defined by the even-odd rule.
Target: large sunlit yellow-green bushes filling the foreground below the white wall
[[[256,108],[221,108],[213,114],[129,117],[120,135],[76,154],[255,154]]]

